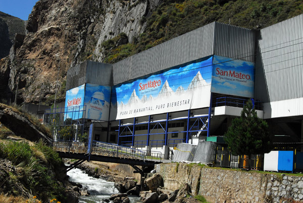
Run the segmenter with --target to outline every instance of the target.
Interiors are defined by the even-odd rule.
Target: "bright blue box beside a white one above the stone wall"
[[[278,156],[278,171],[293,172],[294,151],[279,151]]]

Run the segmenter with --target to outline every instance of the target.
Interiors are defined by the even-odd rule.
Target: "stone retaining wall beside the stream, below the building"
[[[283,198],[303,199],[303,177],[291,174],[258,173],[218,168],[201,168],[184,163],[156,166],[164,187],[179,189],[185,183],[194,195],[211,202],[283,202]]]

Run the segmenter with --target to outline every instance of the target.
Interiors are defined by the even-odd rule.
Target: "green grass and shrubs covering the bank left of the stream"
[[[3,177],[3,183],[9,183],[5,184],[3,192],[21,195],[22,184],[23,189],[44,201],[49,198],[65,199],[65,188],[57,181],[53,172],[62,166],[61,158],[42,141],[33,146],[27,142],[1,142],[0,158],[11,161],[17,168],[16,172],[12,171],[8,177]]]

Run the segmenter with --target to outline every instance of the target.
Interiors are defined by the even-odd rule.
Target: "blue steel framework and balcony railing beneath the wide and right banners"
[[[211,114],[212,114],[212,98],[213,93],[211,95],[210,100],[210,107],[209,107],[209,114],[206,116],[196,116],[191,117],[190,116],[190,110],[188,111],[187,118],[177,118],[177,119],[169,119],[169,113],[166,115],[166,120],[161,121],[153,121],[151,122],[151,116],[148,116],[148,122],[143,123],[136,123],[136,118],[133,120],[133,124],[128,125],[122,125],[122,120],[119,120],[119,129],[118,131],[118,144],[125,145],[125,146],[151,146],[160,145],[169,145],[172,144],[172,146],[175,146],[175,144],[180,142],[188,143],[189,139],[191,138],[191,135],[193,133],[198,133],[202,131],[207,132],[207,136],[210,136],[210,125],[211,125]],[[235,98],[235,97],[218,97],[216,98],[215,106],[232,106],[232,107],[240,107],[243,108],[243,106],[246,104],[248,99],[242,99],[242,98]],[[256,109],[261,110],[262,109],[262,103],[254,101]],[[168,124],[169,121],[176,121],[176,120],[184,120],[187,121],[187,128],[186,131],[174,131],[174,132],[168,132]],[[135,128],[139,125],[146,125],[147,124],[147,133],[146,134],[135,134]],[[157,132],[154,132],[156,131]],[[161,132],[159,132],[159,130]],[[186,137],[182,139],[168,139],[168,134],[172,133],[186,133]],[[160,140],[150,140],[150,135],[163,135],[164,139]],[[147,136],[146,140],[136,140],[134,139],[135,136]],[[121,138],[129,138],[129,140],[122,141]],[[156,142],[156,143],[155,143]],[[140,143],[140,144],[139,144]]]

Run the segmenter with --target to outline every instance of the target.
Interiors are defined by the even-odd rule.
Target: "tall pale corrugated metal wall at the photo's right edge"
[[[303,15],[260,31],[255,98],[276,102],[303,97]]]

